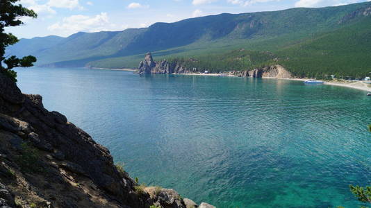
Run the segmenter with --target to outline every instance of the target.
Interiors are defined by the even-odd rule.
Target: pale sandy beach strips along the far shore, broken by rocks
[[[98,67],[92,67],[89,69],[102,69],[102,70],[112,70],[112,71],[137,71],[137,69],[110,69],[110,68],[98,68]],[[187,75],[187,76],[238,77],[231,73],[172,73],[172,74],[173,75]],[[308,80],[308,78],[273,78],[273,77],[262,77],[262,78],[277,79],[277,80],[294,80],[294,81],[302,81],[302,82],[304,82],[305,80]],[[368,84],[363,83],[363,81],[333,80],[333,81],[324,81],[324,85],[331,85],[331,86],[337,86],[337,87],[348,87],[352,89],[358,89],[358,90],[363,90],[366,92],[371,92],[371,87],[368,87]],[[371,83],[369,85],[371,85]]]

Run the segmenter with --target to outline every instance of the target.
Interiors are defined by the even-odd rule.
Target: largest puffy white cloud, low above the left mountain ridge
[[[60,35],[70,35],[80,31],[117,31],[128,27],[129,26],[126,25],[117,26],[115,24],[110,24],[107,13],[101,12],[99,15],[92,17],[85,15],[72,15],[65,17],[62,21],[58,21],[56,24],[49,26],[48,30]]]

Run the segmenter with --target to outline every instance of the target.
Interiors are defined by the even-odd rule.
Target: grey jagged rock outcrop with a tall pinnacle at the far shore
[[[140,62],[138,67],[139,74],[171,74],[171,73],[190,73],[184,67],[167,60],[155,62],[151,53],[145,55],[145,60]]]

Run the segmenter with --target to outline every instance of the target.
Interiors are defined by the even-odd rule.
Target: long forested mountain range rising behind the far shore
[[[371,71],[371,2],[212,15],[66,38],[36,37],[22,39],[7,53],[34,54],[44,66],[133,68],[148,51],[158,59],[199,60],[199,67],[217,71],[279,62],[297,76],[365,76]],[[262,59],[262,53],[270,55]],[[216,66],[208,64],[216,63],[215,58]]]

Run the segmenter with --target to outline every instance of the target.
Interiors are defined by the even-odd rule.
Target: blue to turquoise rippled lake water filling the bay
[[[140,182],[222,207],[356,207],[371,184],[371,98],[291,80],[18,69],[19,87]]]

